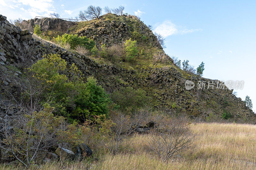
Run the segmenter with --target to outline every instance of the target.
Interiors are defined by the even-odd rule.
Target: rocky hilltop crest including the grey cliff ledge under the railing
[[[110,46],[132,38],[134,32],[139,33],[144,43],[163,49],[154,33],[136,16],[105,14],[90,21],[71,22],[57,18],[35,18],[22,22],[22,27],[33,32],[36,25],[43,30],[53,30],[60,33],[75,33],[93,39],[96,44]]]

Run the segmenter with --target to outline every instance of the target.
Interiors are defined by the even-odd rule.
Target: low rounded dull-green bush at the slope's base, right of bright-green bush
[[[119,91],[111,94],[111,99],[120,106],[121,110],[134,110],[149,103],[149,97],[142,89],[132,87],[122,87]]]

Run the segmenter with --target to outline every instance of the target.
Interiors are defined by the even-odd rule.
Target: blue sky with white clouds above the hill
[[[204,62],[203,77],[244,81],[237,97],[250,96],[256,110],[256,1],[248,0],[0,0],[0,14],[7,19],[75,17],[89,5],[125,6],[166,40],[164,51],[197,67]]]

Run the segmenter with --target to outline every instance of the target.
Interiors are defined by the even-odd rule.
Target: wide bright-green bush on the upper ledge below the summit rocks
[[[55,39],[61,45],[69,44],[70,48],[75,49],[76,46],[81,45],[86,49],[92,49],[95,46],[95,42],[87,37],[78,37],[77,34],[63,34],[62,36],[58,35]]]

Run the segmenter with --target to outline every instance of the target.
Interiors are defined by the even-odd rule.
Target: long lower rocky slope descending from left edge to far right
[[[164,108],[168,112],[186,112],[191,118],[200,117],[203,120],[211,115],[221,117],[223,102],[228,101],[228,110],[236,121],[254,121],[255,119],[252,110],[248,109],[244,102],[225,86],[223,89],[214,90],[211,88],[202,90],[197,87],[186,90],[185,88],[186,80],[194,83],[217,80],[184,74],[176,67],[126,70],[112,64],[99,64],[85,55],[77,55],[51,43],[35,40],[29,31],[13,26],[3,16],[0,21],[2,87],[12,88],[19,84],[21,74],[19,69],[22,69],[24,63],[32,64],[44,54],[59,54],[68,64],[75,63],[85,76],[93,75],[98,78],[99,84],[107,92],[127,86],[135,89],[143,88],[152,98],[156,108]],[[21,55],[26,48],[29,48],[33,55]]]

